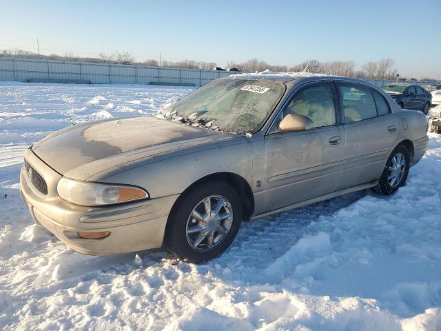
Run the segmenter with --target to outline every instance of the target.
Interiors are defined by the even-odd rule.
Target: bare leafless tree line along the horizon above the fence
[[[116,51],[112,54],[100,53],[98,57],[76,57],[72,52],[66,52],[64,55],[50,54],[43,55],[27,50],[0,50],[0,57],[25,57],[31,59],[51,59],[59,61],[87,61],[96,63],[114,63],[136,66],[163,66],[185,69],[203,69],[209,70],[217,66],[216,62],[206,61],[161,61],[158,63],[156,59],[147,59],[143,62],[135,61],[135,57],[131,52]],[[243,63],[228,61],[227,68],[237,68],[242,72],[262,72],[264,70],[278,72],[314,72],[321,74],[333,74],[336,76],[355,77],[360,79],[395,79],[398,70],[396,70],[395,61],[393,59],[380,59],[378,61],[369,61],[361,66],[360,70],[356,69],[356,63],[353,61],[327,61],[318,60],[304,61],[297,66],[274,66],[266,61],[258,59],[249,59]],[[436,81],[431,78],[424,78],[424,81]]]

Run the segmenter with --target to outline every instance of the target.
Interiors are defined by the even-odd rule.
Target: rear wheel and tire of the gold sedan
[[[410,154],[407,148],[397,146],[387,159],[386,166],[372,190],[380,194],[392,194],[407,180],[410,168]]]

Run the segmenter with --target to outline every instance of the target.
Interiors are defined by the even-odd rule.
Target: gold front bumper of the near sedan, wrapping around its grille
[[[37,223],[73,250],[83,254],[104,255],[159,248],[163,243],[168,214],[178,195],[158,199],[83,207],[61,199],[57,183],[61,175],[28,150],[25,159],[44,177],[48,194],[32,187],[24,170],[20,173],[23,200]],[[110,232],[104,239],[81,239],[76,232]]]

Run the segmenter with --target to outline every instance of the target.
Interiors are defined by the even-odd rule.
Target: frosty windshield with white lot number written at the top
[[[172,106],[184,121],[225,132],[260,130],[285,92],[283,83],[265,79],[217,79]]]

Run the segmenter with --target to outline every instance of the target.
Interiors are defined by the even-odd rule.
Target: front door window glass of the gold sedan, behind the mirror
[[[308,117],[313,123],[313,128],[334,126],[336,108],[331,83],[316,83],[297,92],[294,99],[283,110],[283,117],[287,114]]]

